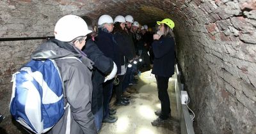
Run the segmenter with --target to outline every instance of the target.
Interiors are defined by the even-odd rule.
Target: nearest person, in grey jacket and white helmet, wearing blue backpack
[[[65,15],[54,27],[55,39],[40,45],[32,58],[58,59],[67,103],[60,121],[48,133],[96,133],[92,114],[92,64],[81,51],[92,31],[76,15]]]

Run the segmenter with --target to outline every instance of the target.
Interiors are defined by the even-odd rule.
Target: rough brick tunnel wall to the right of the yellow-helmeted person
[[[177,52],[196,133],[256,133],[256,1],[187,6]]]

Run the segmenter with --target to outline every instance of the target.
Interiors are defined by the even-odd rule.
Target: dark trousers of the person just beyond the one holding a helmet
[[[103,84],[103,119],[109,116],[109,101],[112,96],[113,79]]]

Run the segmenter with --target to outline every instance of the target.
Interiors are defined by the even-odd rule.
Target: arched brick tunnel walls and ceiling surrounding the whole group
[[[1,38],[53,36],[67,14],[132,15],[175,22],[177,61],[195,111],[195,133],[256,133],[256,1],[0,1]],[[0,39],[1,40],[1,39]],[[12,74],[44,40],[0,41],[0,105],[6,133],[19,133],[9,108]]]

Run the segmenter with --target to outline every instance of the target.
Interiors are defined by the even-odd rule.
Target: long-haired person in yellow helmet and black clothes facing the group
[[[171,108],[167,89],[168,80],[174,74],[175,64],[175,41],[172,31],[175,24],[171,19],[157,21],[157,24],[159,25],[158,31],[154,34],[152,43],[155,56],[152,73],[157,80],[161,110],[155,112],[159,117],[151,123],[152,126],[158,126],[170,118]]]

